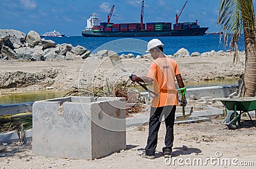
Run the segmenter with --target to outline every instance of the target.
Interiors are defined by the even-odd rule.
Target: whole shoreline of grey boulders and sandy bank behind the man
[[[91,54],[90,50],[79,45],[56,44],[52,40],[41,39],[35,31],[25,34],[0,29],[0,91],[45,87],[70,90],[72,87],[102,85],[106,79],[111,83],[115,83],[116,79],[127,81],[127,75],[113,69],[108,59],[113,54],[115,52],[108,49]],[[233,52],[228,50],[189,54],[188,50],[180,48],[168,57],[178,62],[184,82],[193,83],[239,78],[244,72],[244,51],[239,55],[240,61],[236,64],[232,62]],[[145,75],[152,60],[150,54],[122,54],[120,58],[127,70],[136,75]]]

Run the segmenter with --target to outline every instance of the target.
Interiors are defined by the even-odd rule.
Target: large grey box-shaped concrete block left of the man
[[[125,149],[125,99],[99,100],[69,97],[65,101],[36,101],[33,152],[56,158],[95,159]]]

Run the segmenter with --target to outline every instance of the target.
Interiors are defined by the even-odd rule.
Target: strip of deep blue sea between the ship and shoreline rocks
[[[193,52],[211,52],[215,50],[228,50],[229,47],[225,47],[223,38],[220,41],[220,35],[218,34],[205,34],[204,36],[170,36],[170,37],[157,37],[164,43],[164,54],[175,54],[180,48],[186,48],[189,53]],[[47,40],[53,40],[57,44],[69,43],[74,47],[81,45],[86,47],[93,53],[97,53],[99,50],[113,50],[118,54],[142,55],[147,50],[147,42],[152,40],[152,37],[138,37],[138,38],[90,38],[83,36],[65,36],[61,38],[46,38]],[[241,37],[238,43],[239,51],[244,50],[244,38]]]

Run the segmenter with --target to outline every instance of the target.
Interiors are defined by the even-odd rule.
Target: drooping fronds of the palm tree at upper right
[[[225,47],[228,41],[231,50],[235,51],[234,62],[237,61],[237,41],[244,29],[252,30],[255,27],[255,18],[252,0],[220,0],[218,22],[224,34]],[[228,38],[228,35],[230,37]]]

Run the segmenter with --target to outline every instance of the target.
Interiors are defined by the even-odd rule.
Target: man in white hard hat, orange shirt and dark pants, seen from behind
[[[163,147],[164,158],[170,158],[173,147],[173,124],[175,120],[176,106],[178,105],[178,92],[175,89],[175,78],[179,88],[184,87],[177,62],[163,53],[163,43],[158,39],[148,42],[147,51],[150,52],[154,61],[150,64],[149,71],[145,77],[131,75],[132,82],[154,82],[154,92],[158,97],[152,99],[149,120],[149,132],[143,158],[154,159],[157,147],[157,134],[161,119],[164,116],[166,135]],[[183,106],[186,106],[186,97]]]

